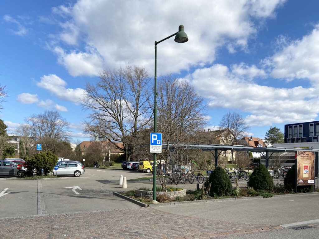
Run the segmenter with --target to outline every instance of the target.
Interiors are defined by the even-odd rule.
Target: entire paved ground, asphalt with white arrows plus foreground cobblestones
[[[285,222],[318,219],[319,195],[141,208],[112,195],[123,190],[121,174],[128,180],[149,177],[92,168],[81,177],[0,177],[0,238],[191,239],[256,233],[258,238],[269,238],[273,233],[289,233],[290,229],[279,226]],[[128,181],[125,190],[142,186],[152,187],[152,182]]]

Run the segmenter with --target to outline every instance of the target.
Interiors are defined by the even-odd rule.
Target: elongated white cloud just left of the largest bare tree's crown
[[[64,80],[54,74],[50,74],[48,76],[44,75],[41,77],[41,81],[36,83],[37,86],[48,90],[59,99],[75,103],[79,102],[86,91],[81,88],[66,89],[66,84],[67,83]]]

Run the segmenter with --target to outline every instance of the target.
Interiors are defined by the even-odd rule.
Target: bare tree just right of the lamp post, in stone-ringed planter
[[[197,133],[206,123],[205,106],[193,86],[171,75],[159,80],[158,93],[157,129],[162,133],[162,142],[167,143],[158,158],[165,162],[167,170],[172,158],[174,163],[182,161],[185,149],[178,145],[196,140]],[[173,152],[168,143],[174,143]],[[161,184],[165,190],[166,180],[161,180]]]

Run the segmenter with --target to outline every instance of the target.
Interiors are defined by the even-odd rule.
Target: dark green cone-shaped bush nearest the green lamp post
[[[216,167],[216,169],[211,173],[209,183],[211,183],[211,190],[209,192],[211,196],[214,196],[214,193],[219,196],[230,195],[232,193],[232,183],[230,182],[230,178],[221,167]]]

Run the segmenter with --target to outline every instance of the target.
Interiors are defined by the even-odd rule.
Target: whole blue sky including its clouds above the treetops
[[[88,112],[78,100],[101,69],[126,65],[154,73],[154,41],[183,24],[189,41],[158,45],[158,75],[189,81],[217,129],[239,112],[249,136],[270,126],[319,120],[319,2],[1,1],[0,83],[9,97],[8,132],[33,113],[57,110],[73,142]]]

